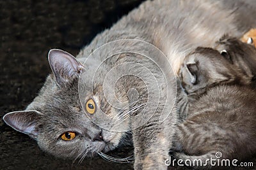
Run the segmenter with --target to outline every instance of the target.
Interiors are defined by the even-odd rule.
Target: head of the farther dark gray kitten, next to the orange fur
[[[253,46],[252,38],[243,43],[237,38],[225,35],[216,42],[216,50],[231,64],[239,67],[244,74],[256,80],[256,48]]]

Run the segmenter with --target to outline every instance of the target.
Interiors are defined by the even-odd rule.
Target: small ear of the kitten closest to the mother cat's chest
[[[191,84],[196,84],[196,72],[198,71],[198,67],[196,63],[187,63],[185,66],[186,70],[183,73],[183,77],[186,78],[185,81],[190,82]],[[185,75],[184,75],[185,74]]]

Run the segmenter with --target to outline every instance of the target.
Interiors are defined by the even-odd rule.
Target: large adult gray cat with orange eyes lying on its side
[[[227,10],[225,6],[232,8]],[[134,168],[166,169],[164,160],[172,147],[177,122],[176,111],[170,104],[176,93],[168,61],[177,73],[184,57],[196,46],[214,46],[214,42],[225,33],[240,37],[256,25],[255,20],[242,19],[244,12],[255,16],[255,10],[248,11],[247,8],[246,3],[239,1],[228,1],[225,5],[223,1],[146,1],[111,29],[97,35],[76,58],[61,50],[51,50],[49,64],[53,74],[48,76],[39,95],[25,111],[8,113],[4,121],[36,139],[45,152],[73,159],[113,150],[124,141],[127,131],[131,131]],[[118,39],[128,40],[116,41]],[[151,43],[166,55],[168,61],[152,50],[152,46],[147,47],[147,43],[141,45],[141,41],[129,39]],[[106,43],[111,45],[111,41],[119,44],[114,43],[108,50],[97,50]],[[134,51],[136,53],[132,53]],[[88,57],[92,52],[93,57]],[[148,53],[149,58],[141,53]],[[138,65],[147,67],[148,73],[142,76],[145,81],[127,75],[121,76],[120,81],[102,83],[113,66],[125,62],[138,64],[121,67],[121,72],[128,70],[140,74],[142,69]],[[95,76],[92,73],[99,65],[102,67]],[[114,79],[118,73],[114,70]],[[92,80],[95,83],[90,83]],[[159,92],[157,89],[147,91],[154,85]],[[103,94],[104,87],[112,91]],[[128,89],[134,90],[129,93]],[[109,103],[105,96],[113,94],[117,100],[110,100],[113,99],[118,106]],[[158,97],[155,103],[152,94]],[[168,97],[172,100],[166,104]],[[157,106],[156,110],[150,106]],[[168,115],[170,111],[172,113]],[[159,121],[163,115],[164,121]],[[112,121],[114,118],[118,121],[118,128]],[[115,131],[112,131],[114,127]]]

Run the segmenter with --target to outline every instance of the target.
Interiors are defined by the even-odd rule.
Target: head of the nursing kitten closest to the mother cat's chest
[[[220,52],[198,47],[185,57],[179,70],[182,88],[188,95],[198,96],[209,87],[223,83],[247,85],[250,77],[232,65]]]

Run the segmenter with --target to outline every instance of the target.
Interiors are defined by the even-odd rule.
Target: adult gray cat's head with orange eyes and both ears
[[[4,115],[4,122],[36,139],[42,150],[56,157],[75,159],[116,148],[125,132],[111,131],[113,124],[108,121],[105,127],[109,129],[102,129],[92,120],[102,118],[100,110],[106,115],[116,115],[119,110],[108,104],[97,85],[79,99],[79,74],[86,66],[62,50],[49,52],[49,64],[53,74],[33,103],[25,111]],[[128,124],[124,121],[122,127],[128,129]]]

